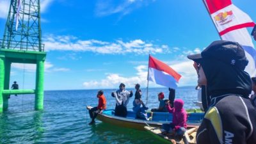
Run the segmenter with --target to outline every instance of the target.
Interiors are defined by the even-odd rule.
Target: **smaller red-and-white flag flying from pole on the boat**
[[[180,77],[180,74],[175,72],[171,67],[153,56],[149,56],[148,81],[153,81],[159,85],[175,89],[178,86]]]

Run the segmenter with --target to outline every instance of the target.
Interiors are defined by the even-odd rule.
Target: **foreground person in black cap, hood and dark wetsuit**
[[[256,108],[248,95],[252,81],[241,45],[218,40],[189,55],[198,67],[198,84],[207,85],[211,103],[196,134],[197,144],[256,143]]]

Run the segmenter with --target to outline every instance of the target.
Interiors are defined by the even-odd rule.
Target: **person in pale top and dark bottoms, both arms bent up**
[[[115,107],[115,115],[116,116],[127,116],[127,104],[129,103],[130,97],[132,97],[132,91],[128,92],[125,90],[125,84],[121,83],[119,86],[119,90],[115,93],[112,92],[111,96],[116,99],[116,107]]]

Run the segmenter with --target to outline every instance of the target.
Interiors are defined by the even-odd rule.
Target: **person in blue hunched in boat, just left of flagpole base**
[[[132,110],[136,113],[136,118],[139,118],[142,120],[148,120],[147,112],[146,112],[147,109],[148,109],[147,106],[145,106],[142,100],[134,99]]]

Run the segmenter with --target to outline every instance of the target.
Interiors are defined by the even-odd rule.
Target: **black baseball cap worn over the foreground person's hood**
[[[226,40],[216,40],[200,54],[191,54],[188,58],[196,63],[200,63],[204,59],[218,60],[241,70],[248,65],[243,47],[237,42]]]

